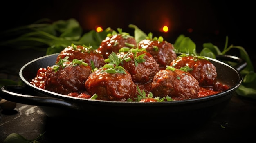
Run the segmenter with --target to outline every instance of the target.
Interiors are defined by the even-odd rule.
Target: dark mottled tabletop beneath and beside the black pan
[[[24,52],[24,51],[23,51]],[[16,79],[22,65],[43,52],[26,51],[29,57],[19,61],[1,64],[1,77]],[[26,53],[25,52],[25,53]],[[33,54],[34,53],[34,54]],[[1,60],[2,61],[2,60]],[[18,64],[17,64],[18,63]],[[5,72],[8,70],[9,72]],[[10,72],[11,71],[11,72]],[[85,116],[85,118],[87,118]],[[104,122],[104,121],[103,121]],[[11,112],[0,109],[0,142],[11,133],[17,133],[26,139],[34,139],[44,134],[40,143],[75,141],[153,141],[153,142],[256,142],[256,100],[234,95],[225,108],[209,121],[193,127],[175,129],[155,129],[155,125],[121,125],[121,128],[102,128],[101,123],[88,120],[69,121],[47,117],[37,106],[17,103]],[[193,124],[193,123],[192,123]],[[150,127],[152,129],[144,129]],[[121,140],[120,140],[121,139]]]

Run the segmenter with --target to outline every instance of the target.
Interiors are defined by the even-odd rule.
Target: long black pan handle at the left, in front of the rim
[[[79,107],[77,107],[75,104],[72,104],[63,99],[53,97],[32,96],[33,93],[35,95],[34,91],[29,90],[25,86],[8,85],[1,87],[0,96],[8,101],[28,105],[79,109]]]

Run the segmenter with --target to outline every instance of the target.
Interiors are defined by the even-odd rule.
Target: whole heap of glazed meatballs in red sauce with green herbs
[[[99,100],[144,102],[195,99],[229,88],[217,82],[215,66],[207,58],[177,56],[171,43],[150,34],[136,48],[135,39],[119,30],[119,34],[108,35],[92,56],[83,53],[91,53],[85,45],[65,48],[56,65],[47,70],[40,68],[30,83],[73,97],[97,95],[94,98]],[[69,56],[87,66],[72,63]],[[150,99],[139,98],[140,95]]]

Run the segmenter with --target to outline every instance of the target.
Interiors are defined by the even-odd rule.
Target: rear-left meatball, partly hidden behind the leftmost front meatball
[[[82,59],[83,62],[91,65],[91,61],[94,62],[95,68],[101,68],[105,65],[104,58],[100,53],[97,53],[96,50],[92,49],[92,47],[86,47],[81,45],[74,45],[66,47],[61,53],[58,55],[56,59],[56,63],[60,59],[64,59],[66,56],[69,57],[69,61],[72,62],[73,59]]]

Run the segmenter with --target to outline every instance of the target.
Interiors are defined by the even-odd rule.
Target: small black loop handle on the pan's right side
[[[247,66],[247,62],[240,57],[232,56],[232,55],[216,55],[216,59],[225,60],[229,62],[236,62],[237,64],[233,66],[238,71],[243,70]]]

